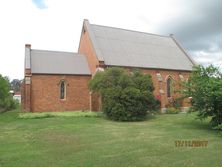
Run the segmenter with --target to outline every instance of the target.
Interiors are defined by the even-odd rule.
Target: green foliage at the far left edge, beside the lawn
[[[0,75],[0,112],[15,109],[18,105],[9,94],[9,90],[9,80]]]

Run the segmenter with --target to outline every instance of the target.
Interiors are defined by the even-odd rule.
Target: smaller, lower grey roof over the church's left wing
[[[31,49],[31,72],[38,74],[90,75],[84,55]]]

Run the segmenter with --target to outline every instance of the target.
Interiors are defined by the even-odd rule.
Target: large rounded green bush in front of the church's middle
[[[142,120],[148,110],[159,107],[151,76],[139,71],[129,74],[121,68],[108,68],[96,73],[89,87],[101,94],[102,111],[113,120]]]

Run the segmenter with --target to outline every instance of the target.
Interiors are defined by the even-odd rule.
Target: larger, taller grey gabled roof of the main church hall
[[[185,71],[195,65],[172,36],[94,25],[88,20],[84,28],[105,65]]]

